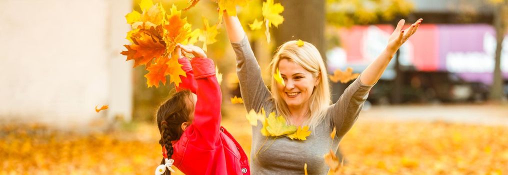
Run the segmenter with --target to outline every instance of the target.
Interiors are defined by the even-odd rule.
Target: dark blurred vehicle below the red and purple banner
[[[367,99],[373,104],[393,103],[394,80],[380,79]],[[401,103],[484,101],[489,87],[467,82],[451,72],[403,71]]]

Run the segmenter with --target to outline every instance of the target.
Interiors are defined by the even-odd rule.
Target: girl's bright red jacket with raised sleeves
[[[250,174],[247,155],[233,136],[220,127],[222,94],[213,61],[178,59],[186,77],[177,91],[188,89],[198,96],[194,121],[173,142],[173,163],[185,174]],[[192,65],[192,67],[191,67]]]

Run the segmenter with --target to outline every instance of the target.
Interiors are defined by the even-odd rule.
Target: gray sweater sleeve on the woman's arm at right
[[[361,75],[360,75],[361,76]],[[328,113],[341,138],[351,129],[367,100],[368,93],[374,85],[364,85],[360,76],[344,90],[339,100],[330,106]]]

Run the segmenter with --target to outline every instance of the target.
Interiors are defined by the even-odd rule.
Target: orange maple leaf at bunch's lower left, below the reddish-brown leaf
[[[158,84],[160,81],[164,85],[166,85],[166,70],[168,69],[168,59],[166,57],[159,57],[156,59],[154,64],[151,64],[149,67],[146,68],[148,70],[148,73],[145,74],[146,78],[146,84],[148,85],[148,88],[151,86],[155,86],[155,88],[158,88]]]

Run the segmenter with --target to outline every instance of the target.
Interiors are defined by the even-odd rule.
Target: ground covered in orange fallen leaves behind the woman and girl
[[[245,115],[229,113],[223,125],[249,154]],[[157,141],[153,123],[88,134],[2,123],[0,174],[152,174],[162,158]],[[342,174],[508,173],[507,127],[359,121],[340,145]]]

